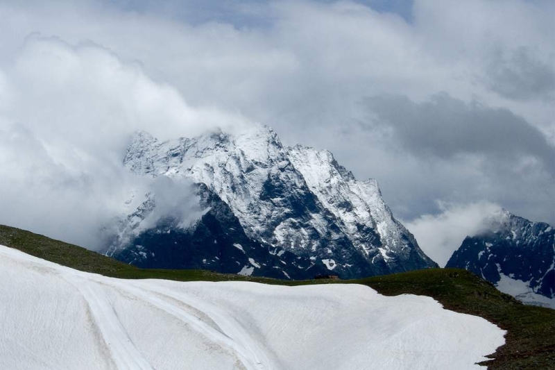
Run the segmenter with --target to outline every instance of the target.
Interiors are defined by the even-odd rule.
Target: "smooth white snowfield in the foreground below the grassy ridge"
[[[1,369],[472,369],[504,330],[363,285],[121,280],[0,246]]]

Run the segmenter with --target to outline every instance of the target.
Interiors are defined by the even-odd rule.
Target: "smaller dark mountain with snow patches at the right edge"
[[[526,303],[555,308],[555,230],[507,210],[466,237],[446,267],[467,269]]]

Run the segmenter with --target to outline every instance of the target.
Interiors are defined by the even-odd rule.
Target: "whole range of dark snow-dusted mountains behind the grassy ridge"
[[[138,176],[185,181],[182,193],[195,202],[181,204],[164,187],[133,195],[105,254],[138,267],[286,279],[437,267],[375,180],[355,179],[329,151],[283,146],[266,126],[165,142],[139,132],[123,164]],[[484,230],[466,237],[446,267],[555,308],[555,230],[506,210]]]

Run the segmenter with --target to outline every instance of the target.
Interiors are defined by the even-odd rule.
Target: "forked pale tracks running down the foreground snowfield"
[[[110,349],[111,358],[118,369],[153,370],[153,367],[143,358],[126,333],[125,328],[121,325],[112,302],[108,295],[105,294],[106,288],[113,288],[119,294],[123,292],[134,296],[140,301],[176,317],[188,324],[189,328],[205,336],[210,342],[225,348],[229,353],[235,355],[248,370],[273,369],[264,352],[250,339],[246,330],[241,328],[238,323],[230,322],[224,315],[219,314],[217,310],[210,308],[210,305],[191,296],[183,293],[176,294],[171,292],[170,289],[157,287],[153,284],[147,284],[148,289],[145,289],[133,284],[139,283],[137,285],[143,285],[140,282],[119,281],[118,279],[105,278],[103,276],[94,276],[94,279],[91,279],[90,274],[87,274],[87,278],[84,278],[80,276],[79,271],[65,272],[65,280],[74,285],[87,301],[95,324],[101,332],[105,344]],[[184,296],[186,300],[183,299]],[[178,301],[183,303],[183,305],[178,305],[171,301]],[[184,305],[189,305],[191,308],[205,314],[210,321],[216,323],[216,328],[203,321],[201,317],[187,312],[187,310],[182,308]],[[225,326],[225,332],[220,329],[221,326]]]

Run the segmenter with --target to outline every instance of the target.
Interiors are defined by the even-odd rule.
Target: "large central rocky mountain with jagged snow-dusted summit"
[[[140,176],[192,180],[207,210],[188,230],[161,224],[111,246],[108,254],[139,266],[273,276],[269,270],[282,278],[326,272],[354,278],[437,266],[393,217],[375,180],[356,180],[329,151],[284,147],[266,126],[167,142],[137,133],[123,163]],[[156,194],[149,195],[123,229],[135,230],[130,224],[144,219],[137,212],[151,212],[155,203]],[[185,244],[194,253],[180,250]],[[161,249],[168,262],[162,266],[153,263]],[[233,256],[225,261],[217,254],[229,251]]]

